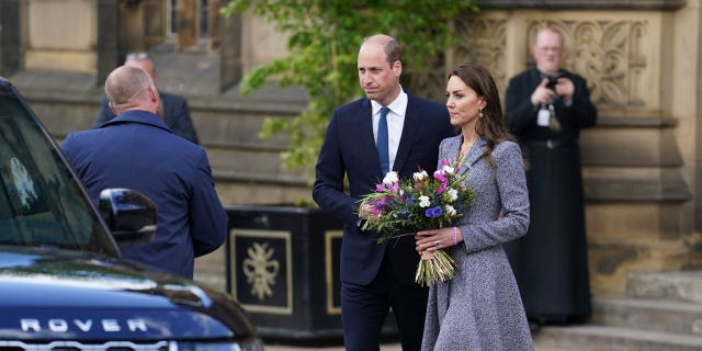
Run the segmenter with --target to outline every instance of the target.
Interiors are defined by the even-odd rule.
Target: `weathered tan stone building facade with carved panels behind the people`
[[[309,199],[280,167],[283,137],[257,137],[269,115],[293,116],[304,92],[274,83],[250,97],[236,83],[285,55],[285,36],[219,0],[0,0],[0,75],[11,79],[60,141],[90,127],[101,83],[129,52],[156,60],[159,87],[189,98],[225,204]],[[477,0],[452,23],[458,45],[415,90],[443,91],[446,69],[487,66],[505,91],[533,65],[544,25],[568,49],[600,120],[581,135],[590,271],[596,296],[625,292],[632,271],[702,264],[702,8],[699,0]],[[431,82],[440,82],[433,84]]]

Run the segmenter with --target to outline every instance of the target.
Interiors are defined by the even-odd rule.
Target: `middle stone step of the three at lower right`
[[[668,299],[593,298],[590,324],[702,337],[702,305]]]

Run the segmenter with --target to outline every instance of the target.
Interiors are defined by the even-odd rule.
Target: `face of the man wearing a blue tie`
[[[382,45],[374,42],[363,44],[359,50],[358,67],[359,82],[369,99],[387,105],[397,98],[403,66],[400,61],[390,66]]]

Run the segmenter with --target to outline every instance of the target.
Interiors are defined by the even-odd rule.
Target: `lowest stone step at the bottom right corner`
[[[702,336],[587,325],[543,327],[534,343],[536,351],[699,351]]]

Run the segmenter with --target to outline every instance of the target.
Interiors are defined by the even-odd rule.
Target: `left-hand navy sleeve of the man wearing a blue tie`
[[[356,199],[343,191],[346,166],[339,145],[338,115],[331,117],[315,167],[313,199],[319,207],[350,226],[358,226]]]

